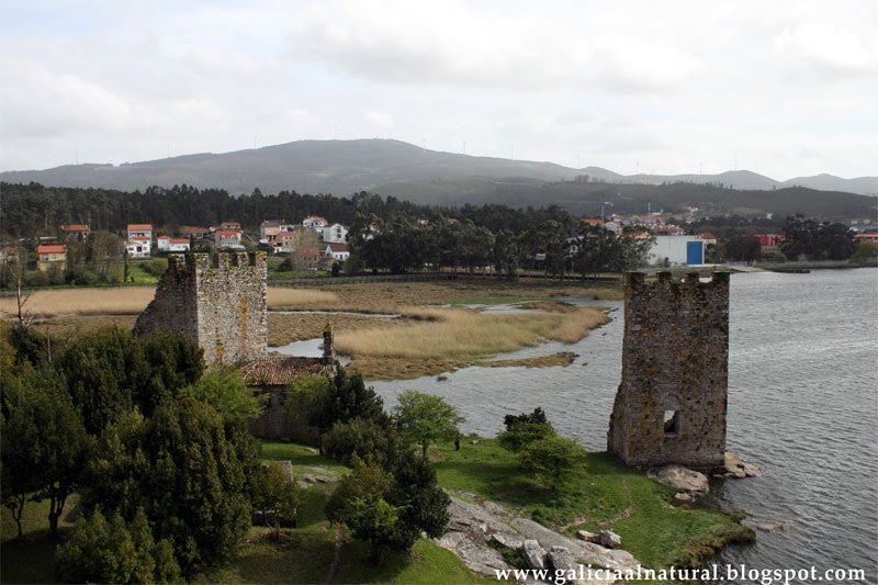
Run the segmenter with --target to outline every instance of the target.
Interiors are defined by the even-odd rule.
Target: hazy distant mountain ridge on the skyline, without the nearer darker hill
[[[294,189],[344,195],[398,181],[430,182],[466,177],[520,177],[564,181],[585,175],[622,183],[722,183],[744,190],[806,187],[878,195],[878,177],[844,179],[819,173],[779,181],[743,169],[714,175],[624,176],[595,166],[572,168],[549,161],[446,153],[383,138],[308,139],[228,153],[192,153],[121,165],[91,162],[42,170],[12,170],[0,172],[0,181],[36,181],[49,187],[101,187],[132,191],[143,190],[151,184],[172,187],[187,183],[199,188],[219,187],[229,192],[249,192],[259,188],[269,192]]]

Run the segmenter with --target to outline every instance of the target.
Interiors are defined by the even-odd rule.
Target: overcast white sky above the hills
[[[878,1],[0,0],[0,170],[305,138],[878,175]]]

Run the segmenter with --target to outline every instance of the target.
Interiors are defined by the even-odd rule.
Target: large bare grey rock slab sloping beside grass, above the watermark
[[[627,551],[569,538],[472,494],[449,495],[448,532],[435,542],[457,554],[476,574],[496,577],[495,570],[567,569],[578,564],[626,570],[639,564]]]

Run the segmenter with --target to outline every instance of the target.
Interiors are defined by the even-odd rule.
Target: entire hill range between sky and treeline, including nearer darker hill
[[[588,180],[583,180],[588,176]],[[475,157],[423,149],[393,139],[300,140],[225,154],[196,154],[143,162],[76,165],[7,171],[0,181],[125,191],[187,183],[232,193],[349,195],[373,191],[418,203],[556,204],[578,214],[698,206],[713,213],[803,213],[836,218],[876,217],[878,178],[830,175],[777,181],[739,170],[719,175],[622,176],[599,167]],[[868,196],[867,196],[868,195]],[[611,205],[610,205],[611,204]]]

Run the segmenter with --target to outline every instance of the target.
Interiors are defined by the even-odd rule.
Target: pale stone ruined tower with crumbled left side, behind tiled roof
[[[261,358],[268,342],[267,277],[264,252],[170,255],[134,333],[180,331],[198,341],[209,364]]]

